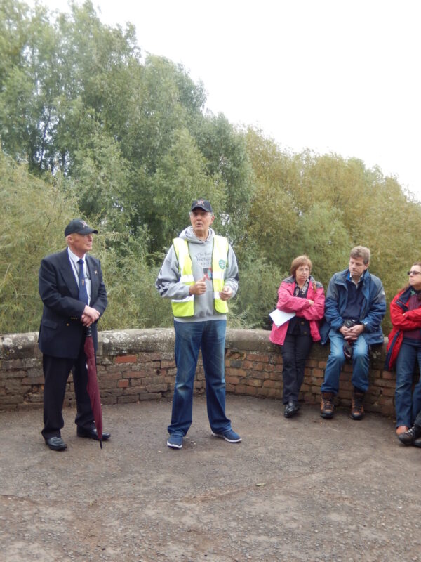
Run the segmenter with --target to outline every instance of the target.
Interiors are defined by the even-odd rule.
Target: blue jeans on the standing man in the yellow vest
[[[215,433],[231,429],[231,421],[225,415],[226,328],[227,320],[174,322],[177,375],[168,433],[185,436],[192,425],[193,384],[199,349],[206,377],[206,405],[210,429]]]

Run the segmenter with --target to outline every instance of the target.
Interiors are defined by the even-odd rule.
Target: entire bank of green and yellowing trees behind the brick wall
[[[171,60],[142,58],[133,25],[103,25],[90,1],[56,18],[0,1],[0,331],[36,329],[39,261],[64,247],[75,216],[100,230],[101,327],[172,325],[154,281],[196,197],[212,202],[239,261],[230,326],[270,326],[295,256],[308,254],[327,287],[356,244],[370,248],[392,299],[421,259],[421,205],[377,167],[282,150],[203,112],[205,102],[203,84]]]

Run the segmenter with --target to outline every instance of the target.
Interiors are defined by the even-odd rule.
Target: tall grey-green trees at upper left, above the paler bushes
[[[4,2],[6,153],[27,159],[34,173],[71,177],[84,216],[135,235],[146,226],[152,252],[185,226],[199,196],[215,201],[234,239],[240,229],[231,217],[246,216],[251,193],[241,133],[223,116],[203,115],[203,84],[180,65],[143,61],[133,26],[102,25],[88,1],[70,8],[50,22],[42,6]],[[168,200],[186,204],[183,218],[181,205],[168,214]]]

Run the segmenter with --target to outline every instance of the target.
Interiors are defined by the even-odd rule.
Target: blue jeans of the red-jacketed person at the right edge
[[[412,426],[421,410],[421,378],[412,392],[413,373],[417,361],[421,372],[421,347],[403,341],[396,359],[396,427]]]

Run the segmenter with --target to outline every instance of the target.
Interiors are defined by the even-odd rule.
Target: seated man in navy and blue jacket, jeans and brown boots
[[[321,417],[333,417],[333,397],[338,394],[339,377],[345,357],[352,358],[351,417],[363,417],[363,398],[368,389],[370,345],[383,343],[381,322],[386,313],[382,282],[368,273],[370,250],[351,250],[349,267],[330,279],[325,302],[321,343],[330,339],[330,355],[321,385]]]

